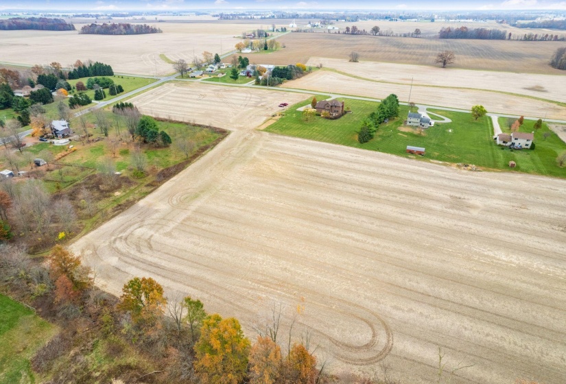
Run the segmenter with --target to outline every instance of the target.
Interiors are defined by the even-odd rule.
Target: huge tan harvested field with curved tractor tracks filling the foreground
[[[562,383],[564,180],[253,124],[72,245],[101,287],[118,294],[152,276],[169,297],[239,318],[248,337],[282,303],[281,333],[296,317],[294,335],[310,330],[333,372],[384,362],[403,382],[430,383],[440,346],[447,370],[473,365],[453,383]]]

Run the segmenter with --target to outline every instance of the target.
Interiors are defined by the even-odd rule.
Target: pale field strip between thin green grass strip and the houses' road
[[[331,71],[317,71],[298,80],[285,82],[281,87],[373,97],[376,99],[384,99],[390,93],[394,93],[399,97],[400,101],[405,102],[408,101],[410,92],[410,85],[369,82]],[[565,107],[545,101],[487,91],[413,86],[411,101],[414,101],[416,104],[464,110],[470,110],[472,106],[481,104],[488,112],[493,113],[524,115],[540,117],[541,119],[546,114],[547,119],[566,119]]]

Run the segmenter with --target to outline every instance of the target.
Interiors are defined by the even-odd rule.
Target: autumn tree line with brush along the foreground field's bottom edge
[[[0,250],[0,280],[12,296],[39,307],[48,320],[60,325],[60,333],[31,359],[35,372],[50,373],[55,382],[110,383],[132,373],[147,373],[151,376],[145,381],[152,383],[331,382],[325,362],[314,355],[309,334],[299,341],[293,326],[288,335],[283,333],[282,305],[274,307],[274,321],[260,326],[252,342],[234,317],[207,313],[205,303],[192,296],[167,298],[151,277],[126,281],[117,298],[97,289],[93,271],[61,245],[52,248],[47,263],[30,259],[12,245],[0,244]],[[292,324],[303,307],[301,302],[293,309]],[[97,343],[104,346],[97,353],[109,361],[128,353],[128,366],[114,372],[97,370],[93,376],[82,363]],[[139,362],[141,356],[157,368],[148,373],[147,365]],[[58,369],[61,361],[69,369]],[[78,367],[82,369],[73,369]]]

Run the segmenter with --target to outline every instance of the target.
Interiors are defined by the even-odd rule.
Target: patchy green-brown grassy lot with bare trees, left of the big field
[[[113,112],[105,111],[105,114],[108,119],[115,118]],[[121,128],[116,129],[114,125],[109,136],[104,137],[95,127],[95,116],[88,114],[85,117],[87,130],[92,135],[89,143],[84,139],[73,140],[70,143],[73,149],[69,149],[67,146],[34,142],[23,150],[24,154],[13,152],[19,162],[19,170],[30,171],[27,175],[41,180],[54,198],[67,199],[73,205],[78,220],[67,239],[88,232],[148,195],[226,136],[225,131],[215,128],[157,121],[158,130],[167,132],[173,143],[169,147],[154,147],[133,142],[123,122]],[[115,120],[112,121],[115,124]],[[82,133],[79,124],[78,118],[71,120],[71,128],[77,134]],[[181,142],[185,143],[185,149],[180,147]],[[133,165],[138,147],[144,163],[141,172]],[[68,154],[60,157],[64,152]],[[2,158],[0,156],[0,168],[10,168],[8,161]],[[48,164],[34,167],[30,164],[33,158],[43,158]],[[105,161],[110,163],[113,171],[102,173],[101,165]],[[115,176],[114,171],[121,174]],[[58,233],[57,228],[54,231]],[[38,236],[37,239],[30,237],[26,241],[30,253],[37,254],[51,248],[57,240],[51,234]]]

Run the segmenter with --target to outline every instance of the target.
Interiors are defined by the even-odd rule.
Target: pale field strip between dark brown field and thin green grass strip
[[[566,76],[512,72],[470,71],[468,69],[392,64],[387,62],[349,62],[345,59],[311,58],[307,65],[338,69],[351,75],[401,84],[476,88],[517,93],[566,103]],[[440,90],[438,90],[440,91]]]

